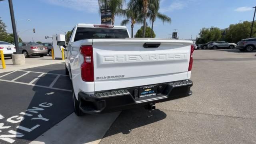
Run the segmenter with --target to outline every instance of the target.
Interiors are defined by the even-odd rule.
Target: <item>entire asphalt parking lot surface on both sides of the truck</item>
[[[0,144],[35,139],[44,144],[82,144],[101,139],[95,137],[100,132],[101,144],[254,144],[255,54],[196,50],[192,96],[156,104],[154,111],[138,108],[97,117],[74,116],[64,64],[0,73]],[[92,122],[84,121],[88,119]],[[99,126],[104,121],[107,125]],[[65,129],[68,124],[73,131]]]

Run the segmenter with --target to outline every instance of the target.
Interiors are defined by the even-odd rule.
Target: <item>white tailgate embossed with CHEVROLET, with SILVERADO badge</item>
[[[160,43],[144,48],[145,43]],[[186,80],[190,60],[188,40],[94,39],[95,91]]]

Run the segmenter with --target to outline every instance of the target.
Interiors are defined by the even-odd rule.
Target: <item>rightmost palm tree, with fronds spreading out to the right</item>
[[[172,20],[170,17],[164,15],[164,14],[160,14],[159,11],[159,3],[160,0],[150,0],[149,4],[148,4],[148,14],[147,16],[150,18],[150,21],[152,22],[152,26],[151,26],[151,38],[153,36],[153,26],[154,26],[154,22],[156,21],[156,18],[159,18],[160,20],[164,22],[169,22],[171,23]]]

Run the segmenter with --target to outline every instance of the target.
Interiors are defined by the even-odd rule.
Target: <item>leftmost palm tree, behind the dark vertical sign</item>
[[[111,10],[111,22],[112,25],[115,24],[115,15],[118,15],[120,10],[122,10],[123,4],[125,0],[98,0],[98,5],[101,8],[101,6],[107,6],[109,10]],[[99,8],[99,12],[100,12]]]

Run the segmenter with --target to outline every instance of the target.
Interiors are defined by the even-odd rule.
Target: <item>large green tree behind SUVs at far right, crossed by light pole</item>
[[[245,21],[239,24],[231,24],[226,30],[224,39],[227,42],[239,42],[242,39],[250,38],[252,22]],[[256,25],[254,24],[252,38],[256,37]]]

